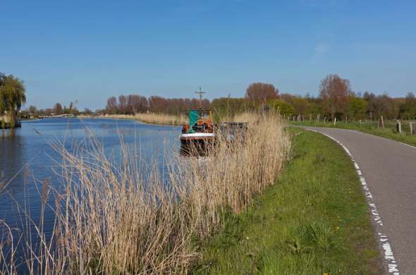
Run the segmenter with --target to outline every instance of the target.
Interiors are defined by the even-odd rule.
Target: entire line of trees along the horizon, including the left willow
[[[0,74],[0,114],[10,111],[17,114],[25,103],[25,87],[23,82],[13,75]],[[93,114],[90,109],[78,111],[75,103],[68,106],[56,103],[49,109],[37,109],[29,106],[21,114],[26,116],[50,116],[51,114]],[[187,114],[190,109],[198,109],[199,99],[165,98],[159,96],[144,97],[140,94],[109,97],[104,109],[99,114],[137,114],[144,112],[164,114]],[[255,82],[245,90],[245,97],[221,97],[210,102],[202,100],[203,109],[212,109],[218,116],[233,116],[244,111],[274,109],[283,116],[326,117],[328,120],[377,120],[385,119],[416,119],[416,97],[408,92],[405,97],[390,97],[389,94],[373,92],[355,92],[350,80],[339,75],[326,75],[319,83],[317,97],[306,94],[298,96],[280,93],[274,85]]]

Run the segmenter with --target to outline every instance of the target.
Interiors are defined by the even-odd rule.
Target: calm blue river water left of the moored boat
[[[166,154],[166,148],[169,152],[179,151],[180,127],[147,125],[136,121],[49,118],[23,122],[22,128],[14,130],[0,130],[0,183],[6,184],[0,193],[0,219],[10,226],[19,227],[20,215],[16,203],[24,205],[26,198],[32,219],[39,220],[41,200],[38,189],[42,190],[42,184],[35,182],[48,178],[51,186],[58,190],[62,188],[53,170],[59,165],[59,155],[50,142],[65,141],[71,150],[71,145],[87,138],[87,128],[102,142],[108,154],[119,152],[121,137],[126,145],[136,147],[137,153],[144,158],[152,156],[160,160]],[[53,203],[53,198],[49,200]],[[53,216],[47,209],[46,231],[52,228]]]

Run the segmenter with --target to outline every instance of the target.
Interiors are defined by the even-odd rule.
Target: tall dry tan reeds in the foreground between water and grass
[[[195,240],[219,231],[224,212],[240,213],[272,185],[288,157],[281,118],[249,116],[255,123],[234,142],[221,138],[210,157],[171,157],[164,171],[123,142],[121,159],[104,154],[94,138],[72,152],[56,143],[66,191],[42,189],[45,201],[56,197],[54,235],[47,240],[30,222],[40,241],[20,243],[23,264],[32,274],[187,273],[200,259]],[[14,264],[0,272],[13,273]]]

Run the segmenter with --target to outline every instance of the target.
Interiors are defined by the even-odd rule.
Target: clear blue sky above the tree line
[[[102,108],[118,94],[243,97],[250,82],[317,94],[416,91],[416,1],[0,0],[0,72],[27,104]]]

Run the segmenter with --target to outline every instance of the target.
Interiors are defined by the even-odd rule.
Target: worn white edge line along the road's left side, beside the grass
[[[345,147],[341,142],[336,140],[336,138],[332,138],[330,135],[326,135],[325,133],[318,132],[317,130],[312,130],[312,129],[306,129],[306,130],[310,130],[311,132],[319,133],[321,135],[325,135],[326,137],[330,138],[331,140],[334,140],[348,154],[348,157],[350,157],[351,161],[353,161],[355,171],[357,172],[358,178],[360,179],[362,189],[364,190],[365,197],[367,198],[367,204],[369,205],[369,210],[370,210],[370,212],[373,216],[374,222],[379,227],[382,227],[383,222],[381,221],[381,216],[379,215],[379,212],[377,211],[377,206],[374,203],[372,193],[368,188],[367,182],[365,181],[365,177],[362,176],[362,171],[360,169],[360,166],[358,166],[357,161],[355,161],[355,159],[353,157],[353,154],[351,154],[350,151],[347,149],[347,147]],[[412,148],[416,149],[416,147],[413,147],[412,145],[407,145],[403,142],[400,142],[400,143],[403,144],[403,145],[406,145],[408,147],[412,147]],[[375,228],[375,229],[376,229],[377,235],[379,236],[379,242],[381,244],[381,247],[383,247],[383,250],[384,250],[384,259],[386,261],[385,264],[386,264],[386,267],[388,269],[389,274],[399,275],[400,272],[398,271],[398,265],[397,265],[396,259],[394,258],[393,250],[391,248],[389,238],[386,236],[386,234],[382,233],[381,230],[379,230],[379,228]]]

